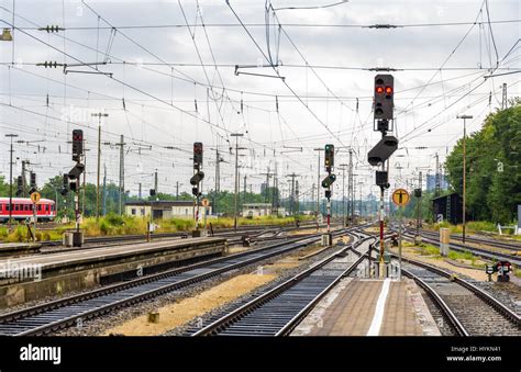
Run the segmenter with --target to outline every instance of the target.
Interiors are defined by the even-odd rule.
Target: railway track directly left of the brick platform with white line
[[[286,336],[308,315],[313,306],[343,277],[353,272],[365,259],[345,267],[337,260],[348,250],[359,247],[373,237],[359,238],[343,247],[311,268],[268,290],[240,307],[218,316],[200,329],[189,329],[191,336]]]

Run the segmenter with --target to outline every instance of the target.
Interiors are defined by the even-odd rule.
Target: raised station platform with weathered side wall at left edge
[[[225,238],[204,237],[1,259],[0,308],[132,279],[140,270],[147,274],[156,268],[221,256],[225,250]]]

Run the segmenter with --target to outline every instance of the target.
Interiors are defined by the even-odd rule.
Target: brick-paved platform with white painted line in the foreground
[[[440,330],[413,281],[346,278],[291,336],[440,336]]]

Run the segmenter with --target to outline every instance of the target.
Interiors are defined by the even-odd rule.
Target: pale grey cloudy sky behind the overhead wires
[[[299,174],[310,199],[313,149],[331,143],[336,165],[353,149],[366,195],[376,192],[366,154],[380,136],[373,131],[376,68],[396,69],[393,185],[434,172],[435,155],[443,161],[463,134],[456,115],[474,115],[473,132],[500,106],[502,83],[509,98],[519,95],[519,74],[485,79],[520,69],[518,0],[229,2],[0,0],[1,27],[15,26],[14,41],[0,42],[0,173],[9,176],[4,134],[24,140],[14,146],[15,174],[29,159],[42,182],[73,166],[67,140],[82,128],[95,183],[91,113],[103,112],[102,168],[118,180],[115,143],[124,135],[133,194],[140,182],[153,185],[155,169],[159,191],[174,193],[176,182],[188,191],[196,140],[206,149],[204,188],[213,188],[219,149],[221,189],[231,190],[231,134],[242,133],[241,174],[254,191],[269,167],[285,187],[287,174]],[[47,25],[60,30],[38,31]],[[60,66],[36,66],[45,61]]]

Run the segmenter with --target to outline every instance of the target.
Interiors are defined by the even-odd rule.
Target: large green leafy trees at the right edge
[[[494,223],[514,219],[521,204],[521,104],[487,116],[466,139],[467,217]],[[445,161],[453,191],[463,195],[463,138]]]

